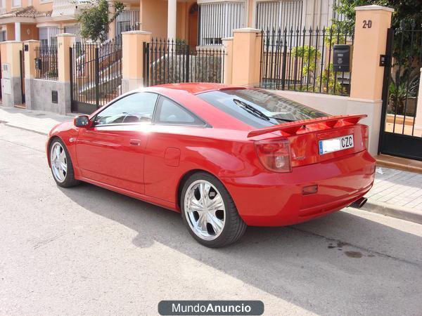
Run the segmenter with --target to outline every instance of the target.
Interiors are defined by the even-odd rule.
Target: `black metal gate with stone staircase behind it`
[[[91,114],[122,94],[122,45],[76,43],[70,48],[72,112]]]

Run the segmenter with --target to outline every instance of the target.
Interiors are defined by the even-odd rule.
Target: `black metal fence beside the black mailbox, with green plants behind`
[[[323,29],[284,28],[262,32],[262,88],[350,94],[350,72],[333,71],[333,46],[353,44],[353,34]]]

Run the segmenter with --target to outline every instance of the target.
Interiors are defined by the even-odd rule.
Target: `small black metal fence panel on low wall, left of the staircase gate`
[[[57,46],[42,45],[35,48],[37,79],[58,80],[57,65]]]

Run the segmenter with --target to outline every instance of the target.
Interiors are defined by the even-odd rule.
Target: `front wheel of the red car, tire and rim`
[[[70,154],[59,138],[55,138],[50,144],[50,164],[53,178],[60,187],[72,187],[79,183],[75,179]]]

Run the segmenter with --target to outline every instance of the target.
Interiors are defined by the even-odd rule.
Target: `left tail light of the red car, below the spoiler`
[[[255,142],[255,150],[261,164],[270,171],[290,172],[290,144],[287,139],[260,140]]]

